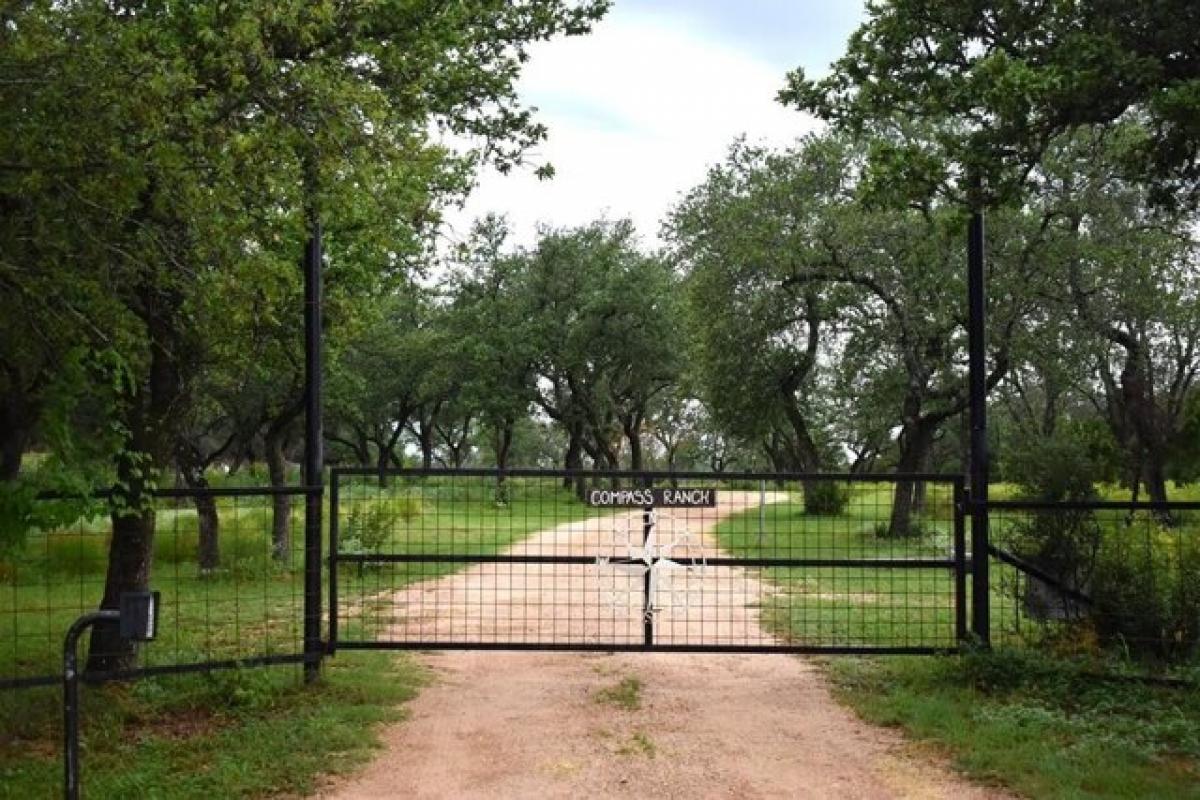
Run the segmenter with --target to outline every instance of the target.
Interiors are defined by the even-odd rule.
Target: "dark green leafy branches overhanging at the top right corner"
[[[1025,178],[1060,136],[1090,125],[1145,121],[1146,146],[1124,168],[1152,187],[1158,204],[1198,199],[1200,59],[1189,0],[1022,4],[1004,0],[895,0],[870,7],[832,73],[797,70],[780,102],[836,127],[886,136],[898,121],[928,126],[949,170],[930,185],[913,149],[872,154],[870,179],[902,203],[964,192],[968,174],[986,194],[972,204],[1019,197]]]

